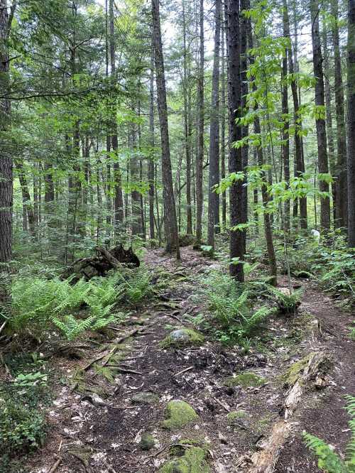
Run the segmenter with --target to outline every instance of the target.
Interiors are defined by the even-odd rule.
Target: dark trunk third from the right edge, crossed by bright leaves
[[[316,77],[315,105],[325,107],[324,102],[324,78],[322,66],[322,48],[320,44],[320,4],[318,0],[310,0],[310,12],[312,21],[312,49],[313,70]],[[319,115],[318,115],[319,116]],[[320,173],[328,173],[327,132],[324,118],[316,119],[317,145],[318,145],[318,168]],[[329,184],[320,180],[320,191],[329,192]],[[322,229],[330,228],[330,202],[329,195],[320,199],[320,226]]]

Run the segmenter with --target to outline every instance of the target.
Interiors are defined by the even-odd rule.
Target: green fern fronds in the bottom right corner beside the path
[[[342,460],[324,440],[310,433],[303,434],[305,444],[315,454],[318,459],[318,467],[325,473],[355,472],[355,397],[346,396],[346,401],[346,411],[351,418],[349,420],[351,440],[346,446],[345,460]]]

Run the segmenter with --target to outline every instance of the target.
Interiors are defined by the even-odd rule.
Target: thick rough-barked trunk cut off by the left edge
[[[7,40],[10,27],[11,18],[9,20],[7,1],[0,0],[0,89],[3,94],[9,92],[9,50]],[[6,132],[9,131],[10,119],[11,104],[9,99],[3,98],[0,102],[0,134],[3,143],[8,141]],[[0,148],[0,263],[8,263],[12,257],[12,204],[12,158],[9,148],[2,144]],[[6,266],[1,265],[0,271],[3,271],[4,268],[7,269]]]

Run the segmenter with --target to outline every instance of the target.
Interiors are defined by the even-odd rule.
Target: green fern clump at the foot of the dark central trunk
[[[255,308],[253,290],[237,283],[230,276],[217,273],[207,279],[209,309],[222,327],[217,336],[222,342],[246,340],[264,320],[275,313],[275,308]]]

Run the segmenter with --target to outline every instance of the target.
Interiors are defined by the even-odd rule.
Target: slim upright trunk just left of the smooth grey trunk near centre
[[[196,241],[202,241],[204,155],[204,0],[200,0],[200,65],[198,72],[198,131],[196,154]]]

